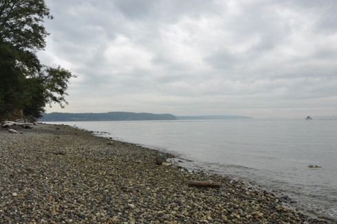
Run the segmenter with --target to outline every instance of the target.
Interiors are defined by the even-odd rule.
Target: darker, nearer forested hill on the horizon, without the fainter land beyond
[[[176,120],[172,114],[149,114],[133,112],[108,113],[58,113],[42,114],[39,121],[155,121]]]

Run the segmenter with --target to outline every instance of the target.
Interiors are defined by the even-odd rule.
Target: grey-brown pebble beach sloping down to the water
[[[242,181],[156,165],[163,152],[67,125],[13,129],[0,128],[0,223],[329,223]]]

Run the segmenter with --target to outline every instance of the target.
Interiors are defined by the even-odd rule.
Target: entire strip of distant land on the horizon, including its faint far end
[[[150,114],[134,112],[107,113],[60,113],[42,114],[39,119],[45,121],[166,121],[166,120],[222,120],[222,119],[253,119],[250,116],[174,116],[173,114]]]

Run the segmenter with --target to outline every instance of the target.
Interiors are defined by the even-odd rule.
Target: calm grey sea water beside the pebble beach
[[[61,123],[173,152],[181,165],[263,185],[290,196],[294,207],[337,220],[336,119]]]

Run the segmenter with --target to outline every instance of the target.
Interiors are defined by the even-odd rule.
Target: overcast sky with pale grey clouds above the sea
[[[337,1],[46,0],[47,112],[337,115]]]

